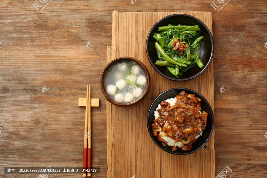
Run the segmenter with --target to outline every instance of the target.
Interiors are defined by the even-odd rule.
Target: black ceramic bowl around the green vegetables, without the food
[[[204,38],[201,40],[201,48],[199,50],[199,57],[202,63],[204,64],[204,67],[202,67],[202,69],[200,69],[198,65],[195,65],[190,69],[188,69],[186,72],[183,72],[183,74],[177,78],[173,74],[171,74],[171,72],[165,66],[158,66],[155,64],[156,61],[160,59],[158,58],[158,54],[155,48],[156,40],[153,38],[153,35],[154,33],[158,33],[158,27],[168,26],[169,23],[172,25],[180,24],[189,26],[194,26],[194,25],[199,26],[201,30],[197,32],[199,33],[200,36],[204,36]],[[147,36],[146,50],[150,64],[161,76],[170,80],[185,81],[198,77],[208,68],[210,62],[212,61],[214,45],[213,45],[212,34],[210,33],[209,29],[203,22],[201,22],[199,19],[191,15],[174,14],[159,20],[151,28]]]

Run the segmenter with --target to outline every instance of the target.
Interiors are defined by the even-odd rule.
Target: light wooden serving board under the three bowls
[[[151,90],[136,106],[120,108],[107,102],[107,178],[214,178],[214,131],[205,147],[189,155],[172,155],[161,150],[147,130],[147,112],[152,101],[170,88],[189,88],[204,96],[214,110],[213,61],[197,78],[175,82],[161,77],[150,65],[146,39],[151,27],[171,14],[188,14],[200,19],[212,33],[210,12],[123,12],[113,11],[112,46],[107,63],[130,56],[147,66]]]

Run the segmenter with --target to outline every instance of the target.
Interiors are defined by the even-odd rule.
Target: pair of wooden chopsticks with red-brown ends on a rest
[[[82,168],[86,170],[91,167],[91,96],[90,85],[87,85]],[[86,177],[86,175],[90,177],[91,172],[83,171],[82,176]]]

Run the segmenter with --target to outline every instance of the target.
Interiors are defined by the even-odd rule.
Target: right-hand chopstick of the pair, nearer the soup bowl
[[[90,96],[90,85],[89,85],[89,92],[88,92],[88,149],[87,149],[87,168],[90,169],[92,167],[91,164],[91,96]],[[91,172],[87,173],[87,176],[91,176]]]

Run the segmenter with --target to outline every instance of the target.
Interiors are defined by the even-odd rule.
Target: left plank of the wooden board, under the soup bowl
[[[148,68],[153,82],[147,97],[133,107],[107,104],[107,177],[160,177],[157,171],[147,171],[160,169],[160,156],[155,154],[159,147],[147,133],[146,124],[147,111],[159,88],[158,74],[144,52],[147,32],[157,21],[155,12],[113,12],[112,48],[107,47],[107,62],[121,56],[137,58]]]

